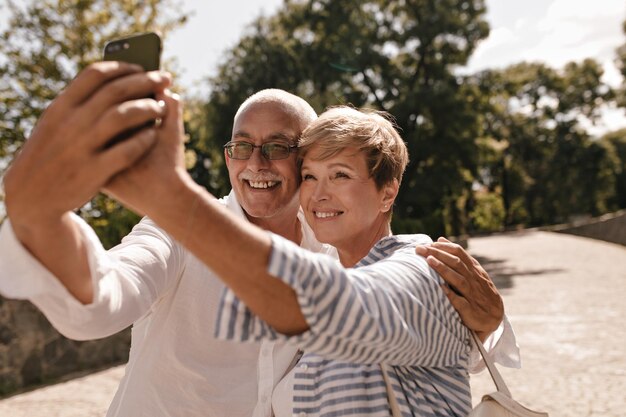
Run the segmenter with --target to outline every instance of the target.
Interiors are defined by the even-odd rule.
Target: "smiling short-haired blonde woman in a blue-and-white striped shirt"
[[[469,331],[442,279],[415,255],[431,240],[391,233],[408,161],[398,132],[380,114],[338,107],[304,131],[299,147],[302,209],[340,262],[272,235],[267,267],[248,265],[254,279],[225,278],[234,292],[222,298],[217,336],[285,339],[305,352],[274,392],[277,417],[388,417],[381,364],[403,414],[467,415]],[[292,291],[255,297],[276,282]]]

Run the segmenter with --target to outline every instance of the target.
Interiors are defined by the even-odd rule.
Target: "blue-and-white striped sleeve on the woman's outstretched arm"
[[[274,331],[225,290],[216,337],[287,340],[306,352],[353,363],[454,366],[469,355],[469,333],[415,244],[360,268],[272,235],[268,272],[291,286],[310,329]]]

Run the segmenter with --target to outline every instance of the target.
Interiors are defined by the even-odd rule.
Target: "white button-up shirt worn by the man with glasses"
[[[222,199],[244,217],[234,193]],[[315,240],[302,214],[302,246]],[[83,305],[21,245],[0,230],[0,293],[31,300],[65,336],[94,339],[133,325],[130,357],[108,417],[271,415],[271,395],[296,349],[213,337],[224,288],[203,263],[151,220],[105,251],[77,216],[88,246],[94,301]],[[210,236],[207,236],[210,239]]]

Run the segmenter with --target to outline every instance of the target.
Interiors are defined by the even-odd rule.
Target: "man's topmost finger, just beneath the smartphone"
[[[82,70],[59,95],[59,101],[76,106],[94,94],[101,86],[116,78],[141,72],[139,65],[127,62],[96,62]]]

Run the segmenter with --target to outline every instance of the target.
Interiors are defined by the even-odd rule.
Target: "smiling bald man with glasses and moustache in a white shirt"
[[[182,133],[169,84],[162,72],[97,63],[50,105],[5,176],[9,220],[0,230],[0,292],[31,300],[61,333],[77,340],[133,325],[126,373],[108,416],[270,416],[273,388],[296,351],[281,343],[236,344],[213,336],[223,284],[186,249],[192,239],[197,242],[189,219],[198,207],[172,212],[176,193],[162,194],[168,175],[184,169],[173,157],[180,155],[180,143],[164,140]],[[142,98],[150,94],[156,100]],[[299,211],[295,159],[296,140],[315,117],[304,100],[283,91],[247,100],[235,116],[232,139],[249,142],[252,152],[248,159],[226,155],[233,191],[221,201],[250,222],[319,251]],[[155,118],[163,118],[159,127],[110,144],[120,132]],[[178,240],[144,218],[105,251],[72,213],[101,189],[136,208],[149,195],[159,196],[154,204],[179,225]],[[484,271],[453,245],[428,251],[444,262],[433,260],[442,276],[458,282],[465,275],[466,297],[455,301],[465,322],[484,335],[498,328],[502,304]],[[455,254],[463,268],[445,266]],[[476,291],[481,294],[474,299],[469,293]],[[504,362],[515,362],[506,320],[502,328],[495,350]]]

